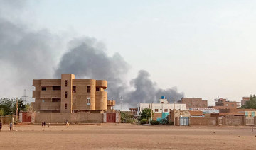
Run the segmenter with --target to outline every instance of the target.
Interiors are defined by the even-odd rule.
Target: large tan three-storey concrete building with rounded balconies
[[[114,100],[107,100],[107,81],[75,79],[61,74],[61,79],[34,79],[33,109],[37,113],[112,112]]]

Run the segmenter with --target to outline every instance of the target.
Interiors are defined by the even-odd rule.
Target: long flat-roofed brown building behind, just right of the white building
[[[178,103],[186,104],[186,108],[207,108],[208,101],[202,98],[181,98]]]

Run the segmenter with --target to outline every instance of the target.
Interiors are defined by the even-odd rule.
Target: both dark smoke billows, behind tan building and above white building
[[[137,103],[156,102],[160,96],[168,99],[179,100],[183,93],[178,93],[176,88],[161,89],[149,79],[149,72],[139,71],[136,79],[130,81],[130,86],[124,82],[124,75],[129,71],[129,64],[120,54],[109,57],[105,47],[92,38],[76,39],[75,47],[70,48],[60,60],[55,76],[72,73],[78,78],[106,79],[108,81],[108,97],[119,102],[120,96],[124,103],[136,105]],[[130,90],[134,88],[134,90]]]

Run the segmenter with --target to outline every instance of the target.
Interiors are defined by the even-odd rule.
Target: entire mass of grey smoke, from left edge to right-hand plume
[[[156,102],[160,96],[176,100],[183,97],[176,88],[161,89],[149,79],[149,72],[141,70],[137,78],[126,83],[129,64],[116,53],[108,56],[105,46],[96,39],[85,37],[72,40],[64,52],[63,38],[48,30],[30,30],[26,25],[12,20],[9,11],[23,8],[23,1],[1,1],[0,6],[0,95],[18,97],[26,88],[28,96],[33,90],[33,79],[60,78],[62,73],[75,74],[77,79],[105,79],[108,81],[108,98],[124,97],[124,105]],[[62,41],[62,42],[61,42]],[[9,89],[12,89],[11,91]],[[21,91],[21,92],[18,92]],[[21,95],[19,95],[21,96]]]

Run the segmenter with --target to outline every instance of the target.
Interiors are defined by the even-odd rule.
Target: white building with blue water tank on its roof
[[[137,114],[142,112],[144,108],[150,108],[154,113],[168,113],[168,108],[170,110],[186,110],[186,104],[182,103],[168,103],[164,96],[161,97],[159,103],[138,103],[137,104]]]

